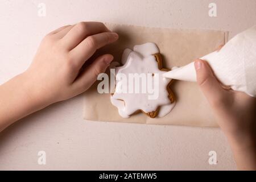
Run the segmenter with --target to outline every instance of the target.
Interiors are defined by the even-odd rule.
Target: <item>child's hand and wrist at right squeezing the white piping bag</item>
[[[256,169],[255,98],[223,86],[206,61],[196,60],[195,68],[197,82],[229,140],[238,168]]]

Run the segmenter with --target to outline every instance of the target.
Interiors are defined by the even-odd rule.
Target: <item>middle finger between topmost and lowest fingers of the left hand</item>
[[[113,43],[118,39],[118,34],[114,32],[104,32],[89,36],[83,40],[76,48],[72,49],[69,54],[72,60],[76,61],[77,67],[81,67],[97,49]]]

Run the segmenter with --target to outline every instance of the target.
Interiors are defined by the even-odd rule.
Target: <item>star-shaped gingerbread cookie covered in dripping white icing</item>
[[[162,56],[156,44],[146,43],[125,49],[115,68],[115,90],[110,100],[123,118],[142,112],[151,118],[164,117],[175,106],[170,71],[162,68]]]

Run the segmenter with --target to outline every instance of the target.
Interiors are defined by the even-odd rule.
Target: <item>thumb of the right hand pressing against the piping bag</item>
[[[222,89],[220,82],[214,76],[209,64],[203,60],[195,61],[197,83],[209,101],[210,105],[221,105],[222,99],[226,97],[228,91]]]

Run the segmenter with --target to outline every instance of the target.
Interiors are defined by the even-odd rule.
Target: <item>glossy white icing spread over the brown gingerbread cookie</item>
[[[151,111],[155,111],[159,106],[161,107],[158,117],[164,117],[174,107],[175,102],[171,103],[167,91],[167,85],[171,79],[163,77],[163,73],[166,72],[159,70],[158,63],[155,60],[155,56],[153,56],[155,53],[159,53],[159,49],[154,43],[135,46],[133,51],[125,49],[122,56],[123,66],[117,67],[115,70],[115,92],[110,98],[112,104],[118,108],[118,113],[121,117],[128,118],[138,110],[142,110],[144,113],[150,113]],[[148,99],[150,93],[122,93],[121,90],[124,83],[122,80],[118,80],[118,74],[124,74],[128,77],[129,73],[150,73],[150,75],[154,73],[152,79],[159,78],[158,98],[156,100]]]

